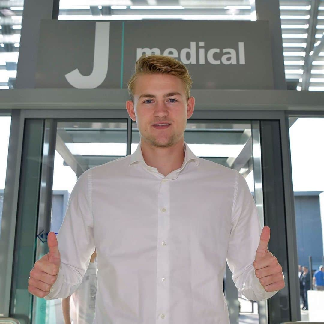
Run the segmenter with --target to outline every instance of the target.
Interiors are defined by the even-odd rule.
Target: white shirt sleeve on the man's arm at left
[[[91,208],[91,173],[87,170],[73,188],[65,217],[57,233],[61,265],[46,300],[66,298],[82,283],[95,251]]]

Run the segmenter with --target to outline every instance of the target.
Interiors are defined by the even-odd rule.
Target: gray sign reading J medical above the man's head
[[[38,88],[127,88],[136,60],[185,64],[193,89],[273,89],[268,21],[42,20]]]

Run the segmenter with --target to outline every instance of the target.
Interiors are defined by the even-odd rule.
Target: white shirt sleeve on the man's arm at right
[[[266,300],[278,291],[267,292],[255,275],[253,262],[260,243],[261,225],[249,186],[244,177],[235,172],[232,227],[226,260],[237,289],[249,300]]]

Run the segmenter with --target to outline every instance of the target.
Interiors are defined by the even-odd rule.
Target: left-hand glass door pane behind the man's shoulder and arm
[[[58,233],[70,193],[77,178],[89,168],[126,156],[127,120],[57,121],[53,124],[53,129],[56,131],[54,137],[54,139],[56,138],[56,145],[51,192],[52,213],[49,216],[40,214],[39,218],[50,217],[50,231]],[[46,145],[49,145],[49,143],[46,140],[45,133],[43,159],[46,158]],[[41,196],[42,192],[46,190],[45,187],[41,189]],[[36,260],[44,254],[46,250],[44,246],[47,248],[47,235],[48,232],[38,237]],[[73,294],[66,301],[71,306],[70,320],[76,322]],[[35,297],[33,309],[33,323],[64,323],[62,298],[45,300]]]

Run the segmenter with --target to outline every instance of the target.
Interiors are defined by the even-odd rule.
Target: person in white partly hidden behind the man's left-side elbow
[[[72,307],[70,310],[70,296],[62,299],[64,324],[92,323],[96,310],[97,293],[97,261],[96,250],[90,258],[88,269],[82,283],[72,294]],[[72,314],[71,314],[72,313]]]

